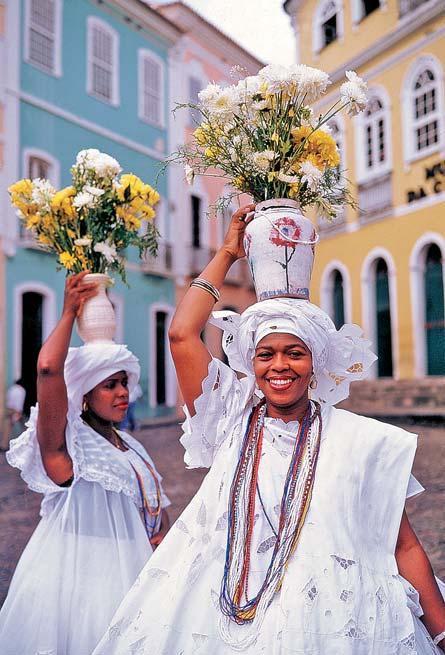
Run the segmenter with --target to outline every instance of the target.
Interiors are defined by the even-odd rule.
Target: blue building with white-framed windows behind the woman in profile
[[[118,330],[141,361],[139,414],[175,412],[176,384],[166,346],[174,307],[167,177],[169,59],[180,31],[141,0],[8,0],[6,3],[5,183],[46,177],[70,183],[83,148],[115,157],[125,172],[157,186],[159,258],[129,254],[130,288],[111,292]],[[2,193],[4,193],[2,191]],[[6,383],[22,377],[35,401],[35,363],[63,303],[64,272],[2,203]],[[77,345],[77,336],[73,345]]]

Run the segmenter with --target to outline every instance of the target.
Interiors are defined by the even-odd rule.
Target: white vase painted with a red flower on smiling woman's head
[[[309,300],[317,241],[313,224],[297,202],[285,198],[260,202],[244,237],[258,300]]]

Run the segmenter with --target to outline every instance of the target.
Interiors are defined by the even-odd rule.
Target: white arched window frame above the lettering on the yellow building
[[[437,108],[434,114],[431,114],[431,118],[427,122],[431,122],[436,119],[438,122],[439,129],[439,139],[437,143],[418,150],[416,147],[416,121],[414,117],[414,84],[418,79],[419,75],[426,69],[431,69],[436,83],[437,90]],[[426,55],[420,57],[418,61],[414,63],[413,66],[408,70],[405,75],[405,79],[402,87],[402,98],[401,98],[402,107],[409,107],[409,111],[406,112],[405,119],[402,121],[403,126],[403,151],[404,151],[404,160],[405,164],[411,164],[419,159],[424,159],[429,155],[437,153],[445,146],[445,99],[444,99],[444,69],[439,60],[433,55]],[[433,118],[434,117],[434,118]],[[425,123],[426,124],[426,123]]]

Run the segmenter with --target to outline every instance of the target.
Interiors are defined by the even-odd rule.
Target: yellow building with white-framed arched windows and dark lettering
[[[369,88],[363,114],[331,123],[360,209],[319,221],[312,299],[337,323],[364,327],[379,354],[374,377],[387,378],[379,389],[394,379],[420,388],[434,376],[426,388],[443,411],[445,2],[287,0],[284,8],[298,61],[333,81],[320,111],[347,70]]]

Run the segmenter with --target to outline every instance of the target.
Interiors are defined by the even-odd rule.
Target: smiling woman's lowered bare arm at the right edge
[[[399,572],[419,592],[424,611],[422,620],[434,638],[445,631],[445,602],[437,586],[431,564],[412,529],[406,512],[403,512],[396,546]],[[438,644],[445,650],[445,637]]]

